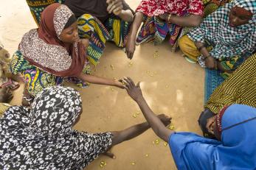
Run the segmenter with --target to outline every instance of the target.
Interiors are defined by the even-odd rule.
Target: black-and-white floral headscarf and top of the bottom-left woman
[[[72,129],[81,111],[72,88],[46,88],[32,109],[10,107],[0,119],[0,169],[83,169],[111,146],[111,132]]]

